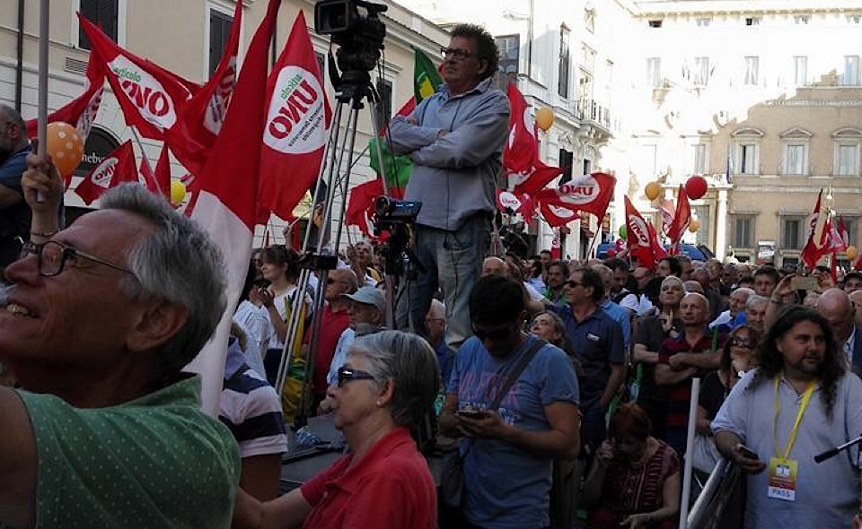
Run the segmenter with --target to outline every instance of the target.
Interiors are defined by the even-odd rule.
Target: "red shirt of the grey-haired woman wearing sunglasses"
[[[437,496],[408,429],[380,439],[354,468],[345,455],[305,483],[306,529],[435,529]]]

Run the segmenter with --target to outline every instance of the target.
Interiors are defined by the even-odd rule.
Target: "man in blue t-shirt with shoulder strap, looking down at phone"
[[[470,314],[475,336],[458,351],[440,415],[445,435],[465,437],[463,516],[486,529],[547,527],[553,459],[580,449],[575,369],[546,344],[488,409],[535,338],[521,332],[521,285],[504,277],[479,280]]]

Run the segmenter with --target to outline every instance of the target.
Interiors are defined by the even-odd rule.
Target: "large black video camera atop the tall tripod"
[[[365,14],[359,13],[359,8]],[[314,30],[318,35],[330,35],[339,45],[336,52],[342,72],[370,72],[380,59],[386,26],[378,14],[387,5],[365,0],[321,0],[314,4]]]

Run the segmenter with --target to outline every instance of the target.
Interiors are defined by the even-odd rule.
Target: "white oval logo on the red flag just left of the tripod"
[[[285,66],[269,101],[263,143],[286,154],[314,152],[326,141],[323,89],[311,72]]]

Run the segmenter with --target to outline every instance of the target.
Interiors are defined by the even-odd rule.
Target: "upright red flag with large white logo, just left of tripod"
[[[269,74],[267,124],[260,147],[259,204],[286,218],[318,178],[330,105],[300,11]]]

